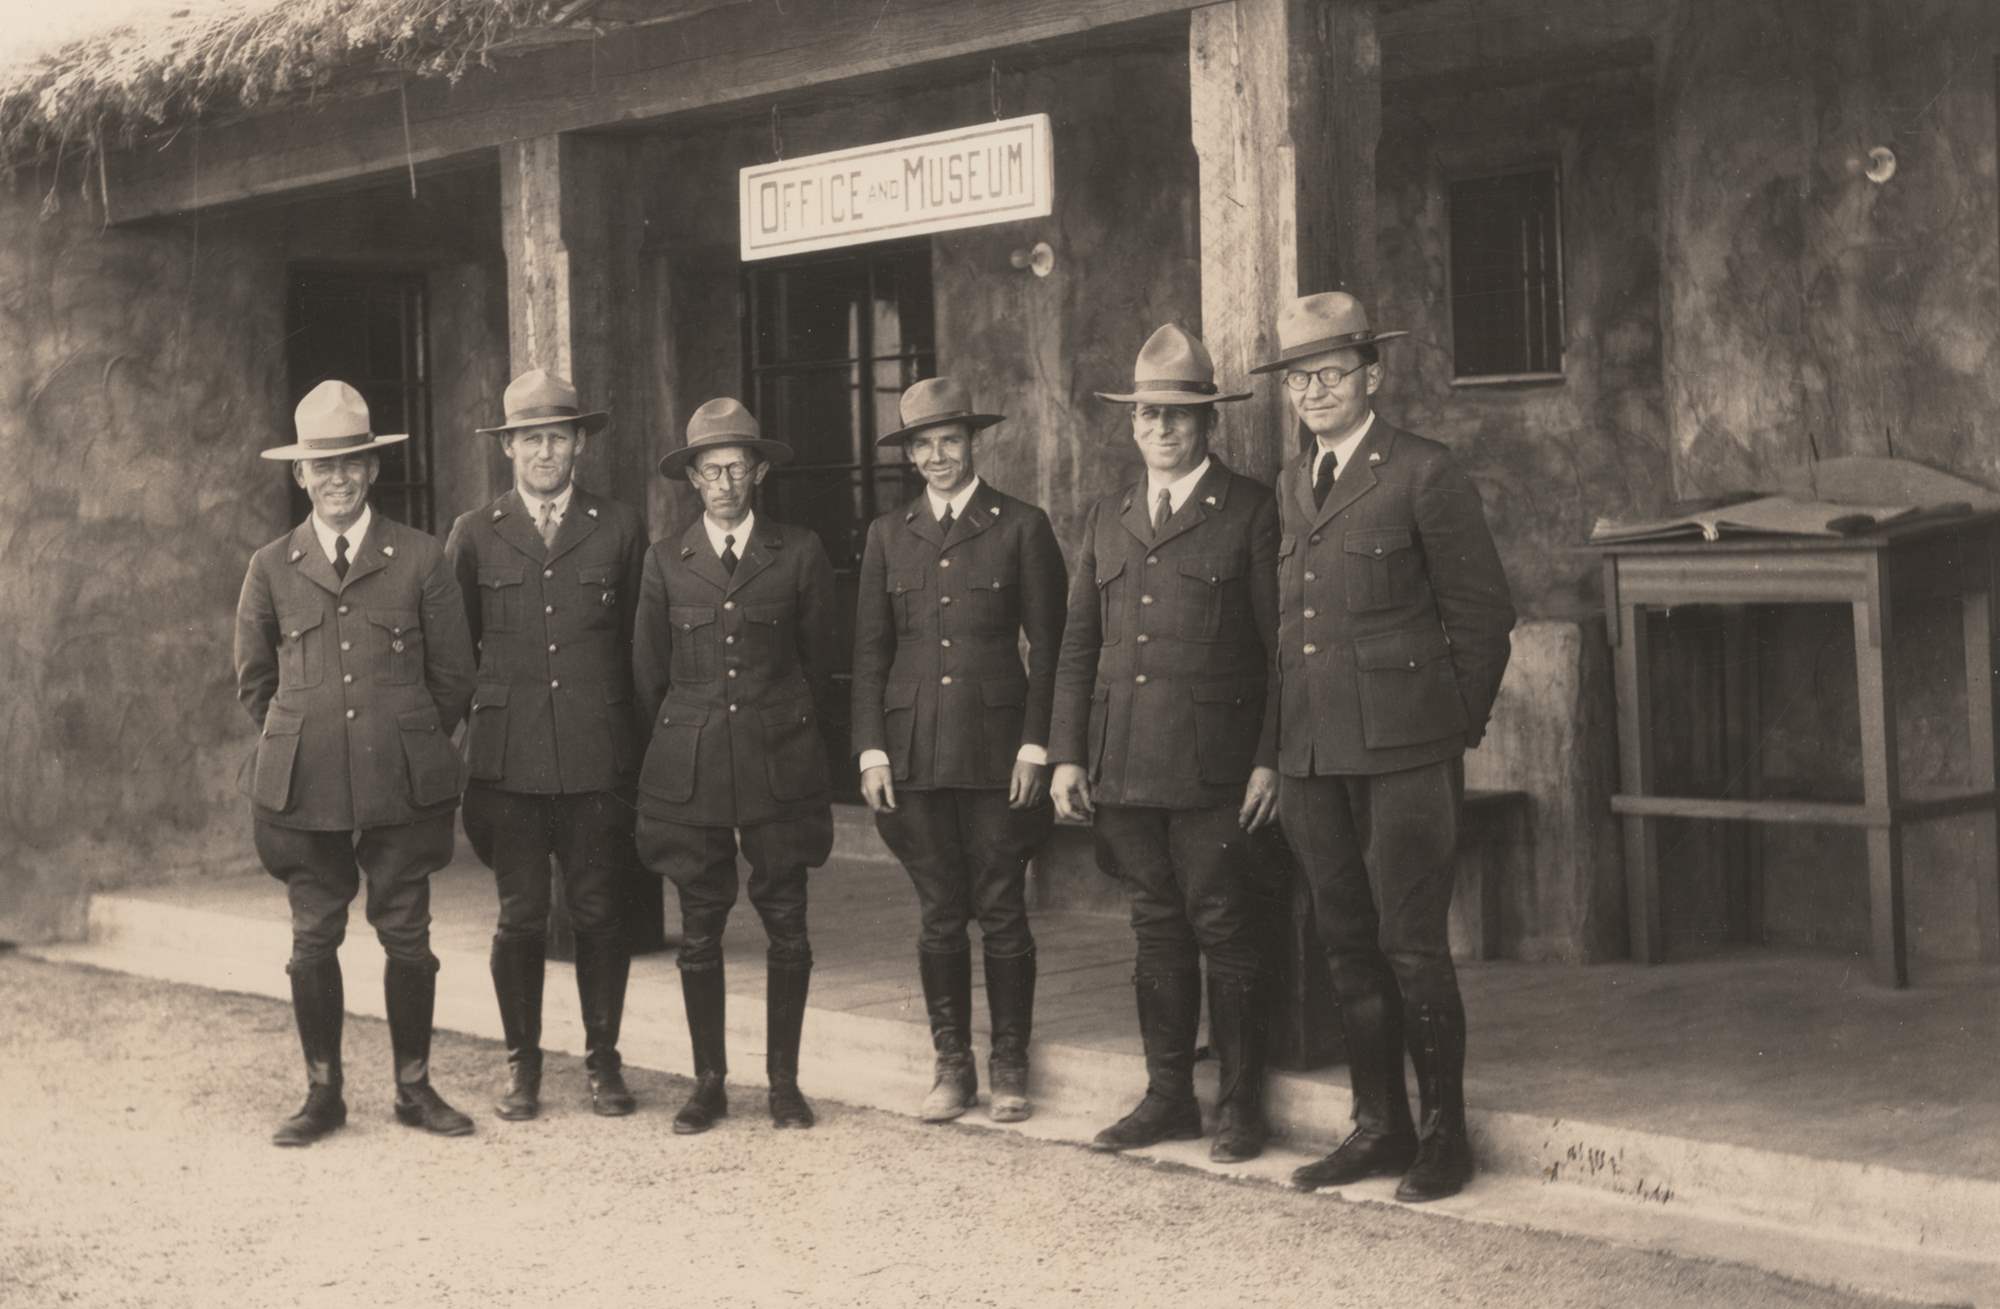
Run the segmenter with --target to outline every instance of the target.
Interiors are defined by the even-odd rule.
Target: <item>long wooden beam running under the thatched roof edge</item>
[[[848,82],[1080,36],[1194,8],[1196,0],[754,0],[542,48],[458,86],[412,80],[228,124],[188,126],[108,164],[110,220],[136,222],[278,196],[514,140],[754,104]]]

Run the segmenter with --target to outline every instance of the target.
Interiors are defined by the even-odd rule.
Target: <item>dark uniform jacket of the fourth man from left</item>
[[[984,480],[950,536],[928,492],[870,522],[854,753],[888,751],[896,783],[914,791],[1004,791],[1020,747],[1048,745],[1066,588],[1048,514]]]

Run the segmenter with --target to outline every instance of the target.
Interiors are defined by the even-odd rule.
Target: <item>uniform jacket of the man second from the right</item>
[[[1278,506],[1210,456],[1158,538],[1146,508],[1140,480],[1084,520],[1048,759],[1106,805],[1240,803],[1276,765]]]

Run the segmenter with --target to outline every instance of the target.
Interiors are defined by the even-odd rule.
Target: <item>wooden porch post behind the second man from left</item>
[[[604,136],[554,134],[500,146],[500,240],[508,268],[512,374],[548,368],[576,382],[610,426],[584,448],[578,482],[646,514],[654,432],[646,386],[646,306],[640,296],[638,150]],[[660,879],[632,853],[628,939],[664,943]],[[550,953],[574,955],[568,905],[556,881]]]

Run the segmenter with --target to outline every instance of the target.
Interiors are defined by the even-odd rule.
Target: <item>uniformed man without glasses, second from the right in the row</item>
[[[1252,833],[1276,815],[1278,508],[1208,450],[1208,348],[1166,324],[1130,392],[1144,476],[1090,506],[1048,733],[1064,817],[1096,813],[1098,865],[1132,897],[1146,1097],[1098,1133],[1120,1151],[1202,1135],[1194,1033],[1208,957],[1222,1163],[1264,1149],[1266,1015],[1250,911]]]

